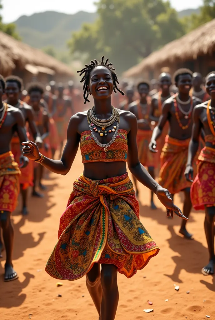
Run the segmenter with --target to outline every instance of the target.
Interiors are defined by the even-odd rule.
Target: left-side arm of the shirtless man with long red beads
[[[163,106],[162,106],[162,114],[159,118],[157,126],[153,130],[152,138],[149,143],[149,150],[152,152],[158,152],[156,150],[156,146],[157,146],[156,140],[160,137],[160,135],[163,131],[163,127],[168,120],[170,108],[171,108],[171,103],[167,103],[166,101],[164,101]]]

